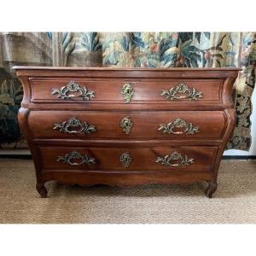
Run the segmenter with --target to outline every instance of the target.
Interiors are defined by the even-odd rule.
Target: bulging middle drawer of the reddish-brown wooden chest
[[[221,139],[222,111],[31,111],[33,138]]]

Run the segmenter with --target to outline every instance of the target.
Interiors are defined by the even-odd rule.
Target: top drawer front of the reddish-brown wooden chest
[[[32,102],[221,102],[223,79],[31,78]]]

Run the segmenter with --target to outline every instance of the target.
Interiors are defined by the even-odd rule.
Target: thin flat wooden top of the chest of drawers
[[[104,79],[226,79],[239,68],[13,67],[18,77]]]

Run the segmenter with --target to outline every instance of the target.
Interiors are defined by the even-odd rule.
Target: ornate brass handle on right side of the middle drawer
[[[183,131],[175,131],[179,128],[183,128]],[[186,123],[186,121],[181,118],[177,118],[167,125],[159,125],[158,130],[169,134],[194,134],[195,132],[199,132],[199,127],[193,126],[191,123]]]

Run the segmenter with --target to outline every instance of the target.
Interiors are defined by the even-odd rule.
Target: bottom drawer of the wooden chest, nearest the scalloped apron
[[[40,148],[44,171],[211,171],[217,147]]]

